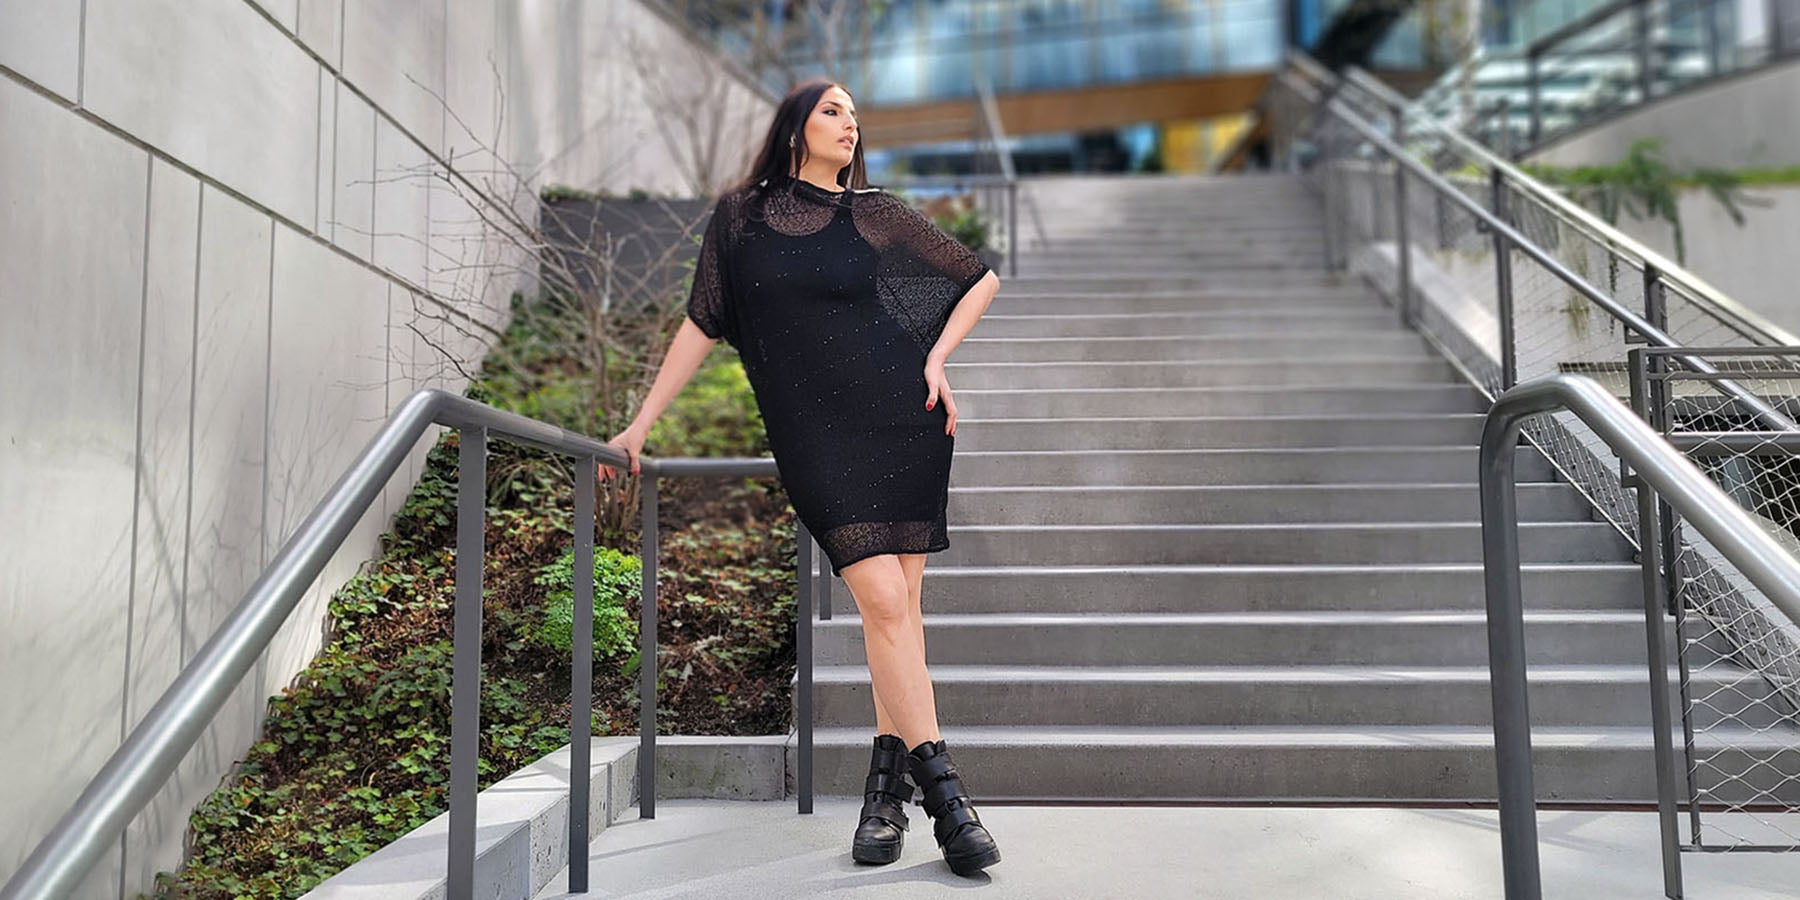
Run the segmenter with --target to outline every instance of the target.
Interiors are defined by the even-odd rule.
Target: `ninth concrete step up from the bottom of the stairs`
[[[954,391],[954,387],[952,387]],[[958,421],[1096,416],[1343,416],[1485,412],[1465,383],[1334,383],[1291,387],[1084,387],[954,391]]]

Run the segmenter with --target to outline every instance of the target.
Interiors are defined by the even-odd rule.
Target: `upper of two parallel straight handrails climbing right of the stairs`
[[[1318,59],[1312,59],[1301,50],[1289,50],[1289,59],[1294,63],[1296,68],[1303,70],[1314,81],[1330,83],[1334,79],[1334,76],[1323,65],[1319,65]],[[1417,106],[1411,101],[1408,101],[1400,92],[1393,90],[1391,86],[1382,83],[1379,77],[1368,74],[1361,67],[1348,67],[1343,77],[1354,83],[1355,86],[1366,90],[1368,94],[1373,94],[1382,106],[1388,108]],[[1663,277],[1663,281],[1679,286],[1696,302],[1706,306],[1708,311],[1712,311],[1719,319],[1724,319],[1726,324],[1735,322],[1735,329],[1744,337],[1778,346],[1800,344],[1800,337],[1795,337],[1793,333],[1777,326],[1775,322],[1757,313],[1755,310],[1733,301],[1724,292],[1712,286],[1694,272],[1688,272],[1687,268],[1665,257],[1663,254],[1651,250],[1649,247],[1636,241],[1629,234],[1618,230],[1615,225],[1609,225],[1600,216],[1589,212],[1580,203],[1570,200],[1562,191],[1550,187],[1548,184],[1534,178],[1532,175],[1525,173],[1512,162],[1487,149],[1487,146],[1483,146],[1480,140],[1463,135],[1456,128],[1445,124],[1444,121],[1433,115],[1418,115],[1418,121],[1424,124],[1424,130],[1454,144],[1465,155],[1472,157],[1480,166],[1487,167],[1492,173],[1499,173],[1499,176],[1512,187],[1530,194],[1532,198],[1550,205],[1562,216],[1573,220],[1573,223],[1582,230],[1586,230],[1591,238],[1598,238],[1602,243],[1611,245],[1611,248],[1616,252],[1624,252],[1629,257],[1636,257],[1636,263],[1640,266],[1656,268],[1656,272]]]

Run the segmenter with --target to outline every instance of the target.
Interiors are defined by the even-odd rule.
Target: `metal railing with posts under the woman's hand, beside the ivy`
[[[38,842],[18,871],[0,886],[0,900],[68,896],[86,871],[117,844],[133,815],[176,772],[182,758],[232,689],[268,648],[301,598],[376,500],[407,454],[434,427],[459,432],[455,599],[452,621],[450,693],[450,835],[446,895],[468,900],[475,873],[475,796],[481,729],[481,619],[486,448],[502,439],[574,461],[574,621],[571,648],[569,720],[569,891],[589,889],[589,770],[592,743],[592,616],[594,616],[594,481],[596,464],[628,470],[612,445],[554,425],[506,412],[473,400],[427,389],[407,398],[356,461],[283,544],[243,599],[194,653],[157,704],[81,790],[74,805]],[[639,815],[655,817],[657,718],[657,479],[659,477],[778,477],[774,459],[653,459],[639,457],[641,488],[641,619],[639,619]],[[473,488],[473,490],[472,490]],[[812,812],[812,536],[799,533],[797,643],[797,790],[799,812]],[[830,580],[830,569],[819,572]]]

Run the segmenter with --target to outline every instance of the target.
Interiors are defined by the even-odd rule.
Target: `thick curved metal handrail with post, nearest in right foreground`
[[[1800,562],[1735,500],[1683,457],[1663,436],[1591,378],[1553,374],[1521,383],[1499,396],[1481,432],[1481,556],[1487,583],[1489,677],[1494,702],[1494,765],[1499,778],[1499,844],[1507,900],[1537,900],[1543,880],[1537,859],[1537,794],[1532,783],[1532,731],[1525,679],[1525,608],[1519,576],[1519,509],[1516,455],[1528,416],[1568,409],[1679,509],[1789,621],[1800,623]],[[1640,488],[1642,491],[1642,488]],[[1640,495],[1640,504],[1645,495]],[[1647,590],[1645,626],[1651,650],[1652,693],[1665,679],[1661,607]],[[1652,702],[1654,704],[1654,702]],[[1667,697],[1652,706],[1658,758],[1670,742]],[[1658,778],[1667,778],[1658,763]],[[1660,801],[1661,814],[1672,806]],[[1665,832],[1667,839],[1667,832]],[[1669,857],[1665,853],[1665,866]],[[1665,868],[1665,878],[1669,877]]]

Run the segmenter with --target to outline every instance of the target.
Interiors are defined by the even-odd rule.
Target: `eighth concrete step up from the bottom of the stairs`
[[[1435,416],[1096,416],[1087,419],[977,419],[958,412],[956,450],[1476,446],[1481,443],[1483,421],[1485,416],[1472,412]]]

